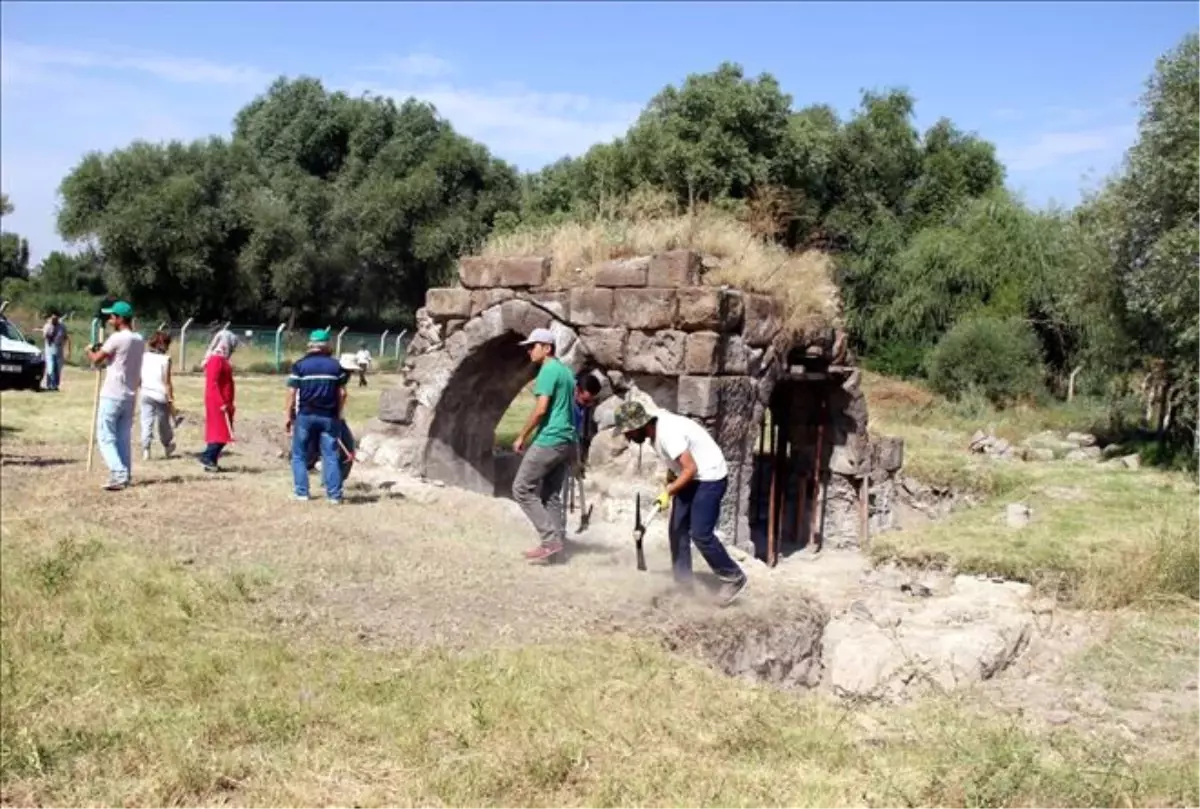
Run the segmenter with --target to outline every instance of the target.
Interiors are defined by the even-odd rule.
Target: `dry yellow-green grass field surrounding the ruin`
[[[506,562],[520,545],[487,550],[511,517],[366,495],[298,510],[282,463],[248,455],[221,480],[186,460],[143,463],[145,485],[104,496],[83,469],[91,382],[70,370],[59,395],[0,395],[4,805],[1200,804],[1196,713],[1162,701],[1190,694],[1194,708],[1200,612],[1181,587],[1166,599],[1140,585],[1145,598],[1096,613],[1104,629],[1063,652],[1064,705],[1152,711],[1133,735],[1084,708],[1066,724],[1000,709],[986,690],[906,707],[784,694],[625,635],[416,646],[360,627],[420,628],[434,595],[439,616],[487,612],[485,593],[520,616],[551,586]],[[200,380],[178,384],[198,413]],[[282,418],[280,379],[238,391],[240,418]],[[354,426],[377,396],[352,389]],[[876,426],[917,459],[949,457],[967,426],[902,421],[907,406],[880,401]],[[199,449],[196,430],[181,441]],[[924,443],[932,430],[944,441]],[[888,543],[1036,571],[1193,525],[1182,478],[1027,466],[973,520]],[[990,522],[1013,492],[1048,486],[1082,496],[1046,495],[1045,527],[1021,541]]]

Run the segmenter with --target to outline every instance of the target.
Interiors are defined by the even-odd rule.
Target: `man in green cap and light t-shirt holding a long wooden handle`
[[[130,485],[130,453],[133,443],[133,398],[142,384],[142,355],[145,341],[133,331],[133,307],[119,300],[100,310],[108,316],[113,334],[102,346],[88,348],[88,359],[95,365],[108,361],[104,382],[100,389],[96,412],[96,444],[108,466],[108,491],[120,491]]]

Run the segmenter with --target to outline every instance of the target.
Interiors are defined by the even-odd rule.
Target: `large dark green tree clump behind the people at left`
[[[511,167],[428,104],[278,79],[232,139],[134,143],[64,180],[59,229],[173,319],[410,312],[520,205]]]

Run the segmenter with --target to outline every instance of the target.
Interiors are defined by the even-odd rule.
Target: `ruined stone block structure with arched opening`
[[[820,398],[822,390],[828,426],[821,455],[829,469],[824,545],[858,545],[864,478],[872,529],[886,529],[902,451],[896,441],[868,435],[866,403],[845,335],[833,328],[790,335],[775,298],[706,286],[710,263],[674,250],[606,262],[592,268],[588,286],[563,287],[552,282],[547,257],[463,258],[460,286],[426,294],[403,380],[382,394],[379,417],[368,425],[358,457],[509,496],[516,459],[493,453],[493,431],[533,378],[518,338],[545,326],[558,338],[558,356],[576,373],[601,374],[606,394],[643,391],[716,438],[730,465],[720,527],[726,541],[752,550],[751,519],[760,510],[751,498],[766,497],[764,486],[752,484],[756,474],[762,480],[755,448],[764,413],[774,404],[776,421],[787,423],[793,459],[804,451],[811,456],[817,417],[804,400]],[[776,389],[790,391],[782,397],[786,411],[779,409],[785,404]],[[782,475],[792,484],[798,477],[794,469]],[[779,522],[785,538],[788,525],[799,525],[794,503],[782,511],[790,508],[791,516]]]

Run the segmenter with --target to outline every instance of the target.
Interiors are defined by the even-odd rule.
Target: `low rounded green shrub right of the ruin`
[[[926,373],[947,398],[979,394],[997,407],[1043,389],[1037,336],[1018,318],[960,320],[929,353]]]

